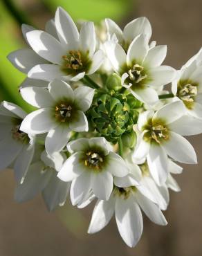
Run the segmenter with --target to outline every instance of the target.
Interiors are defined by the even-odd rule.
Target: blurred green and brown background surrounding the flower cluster
[[[25,75],[6,59],[11,51],[25,46],[21,24],[44,29],[57,6],[73,19],[98,23],[114,19],[122,28],[131,19],[146,16],[152,23],[152,39],[167,44],[165,63],[180,68],[202,46],[201,0],[1,0],[0,1],[0,100],[10,100],[28,109],[17,87]],[[199,165],[186,165],[176,179],[180,193],[171,192],[160,227],[144,219],[144,232],[136,248],[128,248],[115,221],[95,235],[87,235],[93,205],[84,210],[69,202],[48,212],[41,196],[24,204],[13,200],[11,170],[0,177],[0,256],[199,256],[202,255],[202,136],[190,138]]]

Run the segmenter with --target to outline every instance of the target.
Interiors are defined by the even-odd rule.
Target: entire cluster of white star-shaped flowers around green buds
[[[183,136],[202,132],[202,51],[176,71],[162,65],[167,46],[150,42],[147,18],[124,30],[106,19],[105,29],[84,22],[79,31],[62,8],[46,31],[22,26],[28,47],[8,60],[27,74],[19,93],[37,109],[1,103],[0,169],[14,170],[19,202],[42,193],[53,210],[68,194],[77,208],[98,200],[88,232],[115,214],[132,247],[142,212],[167,224],[168,189],[180,190],[176,162],[197,162]]]

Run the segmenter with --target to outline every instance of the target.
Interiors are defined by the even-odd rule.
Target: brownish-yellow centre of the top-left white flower
[[[69,68],[73,71],[80,70],[83,66],[82,55],[80,51],[69,51],[68,55],[64,55],[62,58],[65,61],[66,68]]]

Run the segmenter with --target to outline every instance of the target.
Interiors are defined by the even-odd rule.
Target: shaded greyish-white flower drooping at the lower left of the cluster
[[[57,171],[66,157],[58,152],[48,156],[42,152],[41,159],[35,160],[28,169],[24,182],[15,189],[15,200],[18,202],[33,199],[39,192],[48,210],[54,210],[57,205],[64,205],[70,183],[57,178]]]

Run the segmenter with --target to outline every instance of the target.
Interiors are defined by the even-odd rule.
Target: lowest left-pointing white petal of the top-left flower
[[[55,78],[61,80],[68,80],[70,78],[69,75],[66,75],[64,71],[61,70],[59,65],[55,64],[41,64],[34,66],[29,72],[28,77],[33,79],[45,80],[45,81],[52,81]]]

